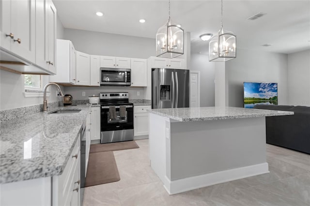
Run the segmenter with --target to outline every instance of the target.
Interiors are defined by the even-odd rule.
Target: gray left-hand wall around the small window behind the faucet
[[[63,38],[62,22],[57,17],[57,38]],[[43,75],[43,86],[49,81],[48,75]],[[60,99],[56,96],[56,88],[49,87],[50,96],[47,102],[58,102]],[[30,106],[34,104],[42,104],[43,97],[25,97],[23,92],[24,88],[24,75],[15,74],[0,70],[0,109],[12,109],[22,106]]]

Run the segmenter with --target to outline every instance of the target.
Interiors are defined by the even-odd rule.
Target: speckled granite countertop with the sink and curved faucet
[[[1,123],[0,183],[61,175],[90,105],[56,107]],[[50,114],[59,109],[78,113]]]

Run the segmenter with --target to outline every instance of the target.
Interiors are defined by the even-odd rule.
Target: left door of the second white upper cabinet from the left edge
[[[48,69],[46,3],[46,0],[35,0],[35,63],[44,69]]]

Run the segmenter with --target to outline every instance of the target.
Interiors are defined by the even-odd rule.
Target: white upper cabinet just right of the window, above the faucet
[[[49,81],[76,84],[76,49],[70,40],[57,39],[57,74]]]

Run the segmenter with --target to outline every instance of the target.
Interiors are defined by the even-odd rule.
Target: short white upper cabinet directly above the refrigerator
[[[168,59],[162,57],[150,57],[151,68],[171,68],[171,69],[185,69],[184,59]]]

